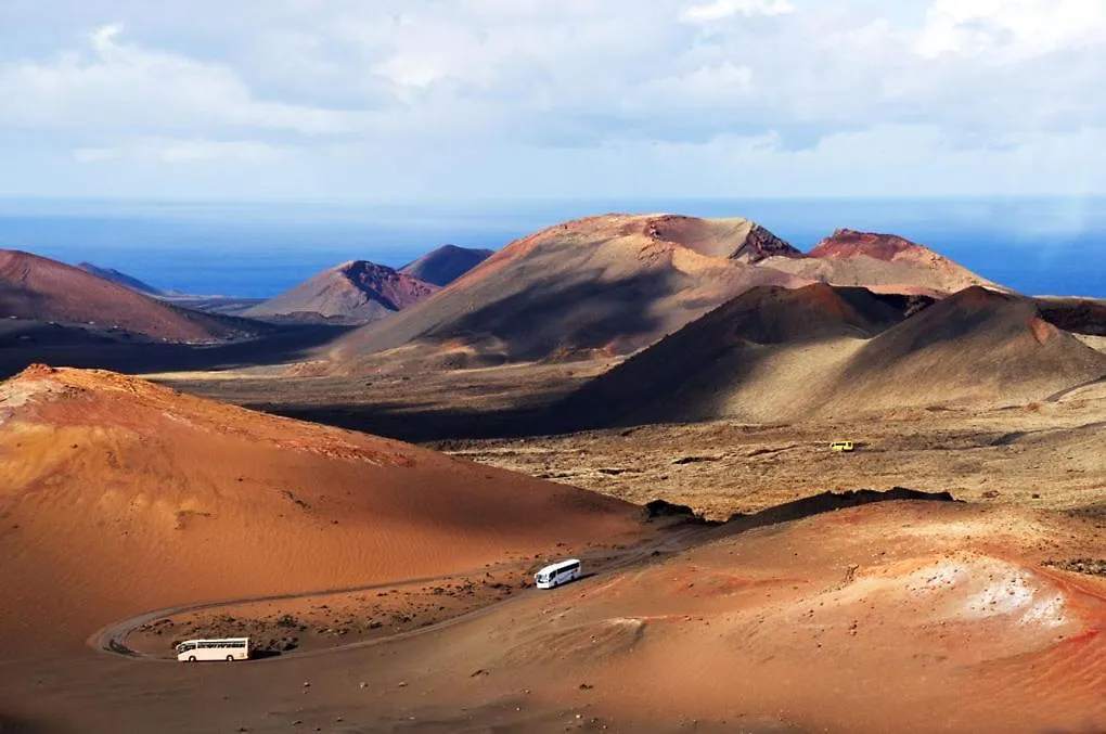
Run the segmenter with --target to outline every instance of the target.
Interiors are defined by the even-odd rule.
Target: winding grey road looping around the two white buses
[[[632,565],[634,565],[636,563],[639,563],[639,562],[643,562],[643,560],[647,560],[648,558],[654,557],[656,555],[661,555],[661,554],[668,554],[668,553],[676,553],[676,552],[679,552],[679,550],[685,550],[688,547],[690,547],[691,545],[693,545],[695,541],[698,539],[700,536],[705,535],[709,529],[710,529],[710,526],[705,526],[705,525],[691,525],[691,526],[685,526],[685,527],[680,527],[680,528],[676,528],[676,529],[667,529],[667,531],[664,531],[664,535],[661,537],[656,538],[654,541],[646,541],[646,542],[639,543],[636,546],[627,548],[626,550],[624,550],[622,553],[614,554],[613,557],[612,557],[612,554],[603,554],[603,556],[606,557],[606,558],[608,558],[608,560],[606,563],[602,564],[598,567],[598,570],[585,575],[582,580],[586,580],[588,578],[593,578],[594,576],[596,576],[598,574],[609,574],[609,573],[612,573],[614,570],[626,568],[627,566],[632,566]],[[585,559],[585,560],[588,558],[587,555],[582,555],[580,557],[583,558],[583,559]],[[92,637],[90,637],[88,638],[88,644],[91,644],[92,647],[94,647],[95,649],[97,649],[97,650],[100,650],[102,652],[106,652],[106,653],[111,653],[111,654],[116,654],[116,656],[123,656],[123,657],[131,658],[131,659],[134,659],[134,660],[142,660],[142,661],[147,661],[147,662],[177,662],[175,658],[156,656],[156,654],[152,654],[149,652],[144,652],[144,651],[140,651],[140,650],[135,650],[133,648],[129,648],[129,647],[127,647],[127,643],[126,643],[127,638],[131,636],[132,632],[134,632],[137,628],[142,627],[143,625],[149,623],[149,622],[154,621],[155,619],[163,619],[165,617],[174,617],[174,616],[177,616],[177,615],[191,614],[191,612],[196,612],[196,611],[210,611],[210,610],[213,610],[213,609],[222,609],[222,608],[226,608],[226,607],[237,607],[237,606],[248,605],[248,604],[258,604],[258,602],[265,602],[265,601],[289,601],[289,600],[295,600],[295,599],[310,599],[312,597],[332,596],[332,595],[337,595],[337,594],[357,594],[357,593],[361,593],[361,591],[372,591],[372,590],[375,590],[375,589],[396,588],[396,587],[401,587],[401,586],[410,586],[413,584],[429,584],[429,583],[432,583],[432,581],[441,581],[441,580],[446,580],[446,579],[450,579],[450,578],[457,578],[457,577],[463,577],[463,576],[478,576],[478,575],[484,574],[488,570],[495,570],[495,569],[503,570],[503,569],[509,569],[509,568],[520,568],[520,567],[529,566],[531,563],[532,562],[530,562],[530,560],[524,560],[524,562],[518,562],[518,563],[507,563],[507,564],[498,564],[498,565],[494,565],[494,566],[486,566],[486,567],[482,567],[482,568],[479,568],[479,569],[476,569],[476,570],[457,572],[457,573],[445,574],[445,575],[440,575],[440,576],[424,576],[424,577],[419,577],[419,578],[398,579],[398,580],[394,580],[394,581],[383,581],[383,583],[379,583],[379,584],[369,584],[369,585],[365,585],[365,586],[354,586],[354,587],[340,588],[340,589],[325,589],[325,590],[320,590],[320,591],[304,591],[304,593],[301,593],[301,594],[285,594],[285,595],[278,595],[278,596],[249,597],[249,598],[244,598],[244,599],[231,599],[231,600],[225,600],[225,601],[211,601],[211,602],[205,602],[205,604],[185,605],[185,606],[178,606],[178,607],[169,607],[169,608],[166,608],[166,609],[157,609],[157,610],[154,610],[154,611],[147,611],[147,612],[144,612],[144,614],[138,615],[136,617],[131,617],[129,619],[124,619],[122,621],[117,621],[117,622],[114,622],[112,625],[108,625],[104,629],[100,630],[98,632],[96,632]],[[576,581],[576,583],[578,584],[580,581]],[[373,640],[362,640],[359,642],[351,642],[348,644],[335,646],[335,647],[331,647],[331,648],[326,648],[326,649],[322,649],[322,650],[305,650],[305,651],[289,651],[289,652],[283,652],[283,653],[281,653],[279,656],[274,656],[272,658],[267,658],[267,659],[258,660],[255,662],[272,662],[272,661],[283,660],[283,659],[292,658],[292,657],[307,658],[307,657],[315,657],[315,656],[321,656],[321,654],[332,654],[334,652],[340,652],[340,651],[343,651],[343,650],[351,650],[351,649],[355,649],[355,648],[373,647],[373,646],[376,646],[376,644],[380,644],[382,642],[388,642],[388,641],[393,641],[393,640],[405,639],[405,638],[409,638],[409,637],[415,637],[417,635],[426,635],[426,633],[429,633],[429,632],[435,632],[435,631],[439,631],[439,630],[442,630],[442,629],[447,629],[447,628],[452,627],[455,625],[460,625],[462,622],[466,622],[466,621],[469,621],[469,620],[472,620],[472,619],[478,619],[480,617],[483,617],[484,615],[491,614],[492,611],[500,609],[501,607],[503,607],[505,605],[518,602],[520,599],[530,598],[534,593],[535,593],[535,589],[533,587],[531,587],[528,590],[525,590],[524,593],[522,593],[520,595],[517,595],[517,596],[513,596],[513,597],[511,597],[509,599],[503,599],[502,601],[497,601],[497,602],[493,602],[493,604],[489,604],[489,605],[486,605],[483,607],[480,607],[479,609],[474,609],[472,611],[469,611],[469,612],[466,612],[466,614],[462,614],[462,615],[458,615],[456,617],[450,617],[448,619],[441,620],[440,622],[436,622],[434,625],[428,625],[426,627],[420,627],[418,629],[407,630],[405,632],[397,632],[395,635],[389,635],[387,637],[382,637],[382,638],[377,638],[377,639],[373,639]]]

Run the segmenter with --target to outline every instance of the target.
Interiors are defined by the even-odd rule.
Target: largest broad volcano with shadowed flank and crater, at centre
[[[512,242],[331,356],[347,370],[397,347],[469,365],[629,354],[750,287],[806,283],[749,264],[779,252],[797,254],[745,219],[588,217]]]

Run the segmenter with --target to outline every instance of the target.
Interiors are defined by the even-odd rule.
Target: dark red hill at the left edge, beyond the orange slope
[[[0,317],[95,324],[169,342],[208,342],[242,324],[163,303],[91,273],[15,250],[0,250]]]

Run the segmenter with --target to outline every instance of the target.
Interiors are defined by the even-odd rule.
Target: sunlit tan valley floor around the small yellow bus
[[[831,441],[854,441],[837,453]],[[911,410],[864,420],[645,426],[444,441],[458,457],[714,520],[827,490],[908,486],[1106,520],[1106,386],[1055,403]]]

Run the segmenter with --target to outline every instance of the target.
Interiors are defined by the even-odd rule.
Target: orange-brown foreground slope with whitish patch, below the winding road
[[[895,502],[714,533],[687,553],[332,654],[198,668],[100,658],[19,675],[0,663],[12,673],[0,703],[82,732],[1106,726],[1106,584],[1047,565],[1100,552],[1092,523]]]

